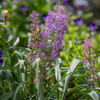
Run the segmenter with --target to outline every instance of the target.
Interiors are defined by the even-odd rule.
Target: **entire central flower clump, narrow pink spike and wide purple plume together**
[[[46,25],[39,24],[39,14],[33,11],[31,18],[31,48],[28,61],[33,62],[36,58],[41,58],[40,66],[42,76],[46,77],[46,66],[51,66],[51,62],[57,60],[59,51],[64,48],[62,40],[67,31],[67,12],[63,7],[55,6],[55,12],[49,11],[45,18]]]

